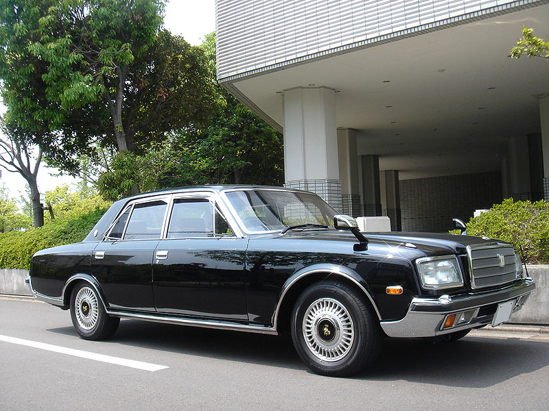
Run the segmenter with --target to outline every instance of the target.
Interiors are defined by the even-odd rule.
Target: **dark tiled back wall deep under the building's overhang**
[[[401,180],[402,230],[447,232],[454,217],[467,223],[474,210],[501,201],[499,172]]]

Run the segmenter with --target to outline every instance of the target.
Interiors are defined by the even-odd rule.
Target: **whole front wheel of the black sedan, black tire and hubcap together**
[[[292,340],[305,364],[321,375],[358,373],[379,353],[382,333],[369,302],[354,288],[321,282],[306,288],[292,312]]]

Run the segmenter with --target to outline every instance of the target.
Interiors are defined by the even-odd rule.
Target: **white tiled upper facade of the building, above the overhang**
[[[218,0],[218,79],[536,3],[543,1]]]

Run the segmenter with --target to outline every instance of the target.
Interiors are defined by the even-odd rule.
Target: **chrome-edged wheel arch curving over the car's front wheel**
[[[368,285],[364,279],[346,266],[338,266],[336,264],[314,264],[313,266],[305,267],[296,271],[283,284],[277,309],[273,316],[273,325],[279,334],[287,331],[286,327],[290,325],[290,317],[295,301],[305,288],[316,282],[321,282],[324,279],[340,279],[343,282],[353,286],[361,295],[364,295],[373,308],[377,319],[381,321],[381,315],[375,301],[372,298]]]

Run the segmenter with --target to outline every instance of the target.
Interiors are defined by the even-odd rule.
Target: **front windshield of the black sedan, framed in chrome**
[[[337,214],[318,195],[307,192],[235,190],[225,195],[248,233],[282,230],[293,225],[333,227]]]

